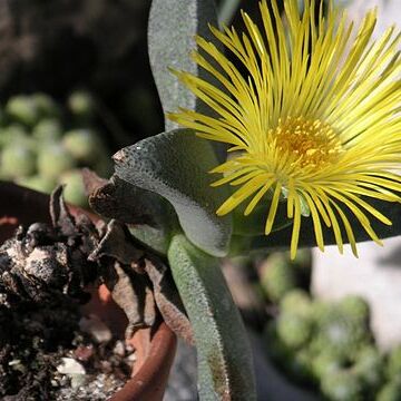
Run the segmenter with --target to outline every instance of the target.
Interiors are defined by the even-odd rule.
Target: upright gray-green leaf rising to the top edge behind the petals
[[[206,71],[192,60],[190,51],[197,49],[195,36],[212,40],[208,23],[217,27],[213,0],[153,0],[148,26],[148,47],[151,71],[160,97],[163,110],[177,111],[185,107],[209,114],[207,107],[194,94],[178,82],[168,69],[206,77]],[[213,77],[207,80],[217,85]],[[166,130],[177,128],[166,120]]]

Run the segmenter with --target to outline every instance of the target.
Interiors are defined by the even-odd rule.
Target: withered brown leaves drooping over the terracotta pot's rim
[[[109,276],[106,285],[128,317],[127,336],[139,327],[153,326],[160,312],[176,334],[193,343],[190,323],[170,271],[158,256],[140,250],[126,225],[109,222],[105,236],[89,255],[91,261],[100,257],[115,261],[115,276]]]

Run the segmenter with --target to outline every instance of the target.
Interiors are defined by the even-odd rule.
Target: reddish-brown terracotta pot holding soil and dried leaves
[[[70,206],[72,214],[84,211]],[[94,221],[94,214],[85,212]],[[10,237],[19,224],[50,223],[49,196],[0,182],[0,243]],[[84,312],[98,314],[116,333],[123,334],[127,325],[124,312],[114,303],[106,286],[92,291],[91,301]],[[162,322],[154,332],[139,330],[128,340],[136,349],[137,360],[133,376],[113,398],[113,401],[158,401],[163,399],[169,370],[176,351],[176,336]]]

